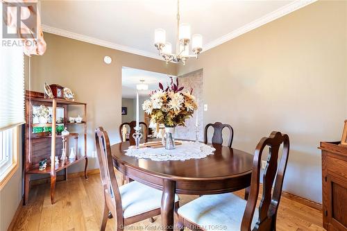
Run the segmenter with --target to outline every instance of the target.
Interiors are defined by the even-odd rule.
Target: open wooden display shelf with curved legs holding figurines
[[[46,105],[51,107],[51,120],[52,123],[33,123],[33,106]],[[68,111],[69,105],[83,106],[83,117],[85,121],[81,123],[70,123],[67,121],[69,118]],[[65,171],[65,180],[67,180],[67,168],[71,165],[78,164],[85,160],[85,178],[87,179],[87,104],[76,101],[68,101],[65,99],[45,99],[44,94],[41,92],[26,91],[26,131],[25,131],[25,182],[24,182],[24,205],[28,203],[28,195],[30,189],[30,179],[33,174],[49,174],[51,175],[51,203],[54,203],[54,193],[56,188],[56,173],[58,171]],[[57,123],[57,108],[63,109],[63,122]],[[69,152],[69,139],[75,140],[75,158],[68,158],[65,161],[60,160],[62,155],[62,135],[56,134],[56,126],[70,126],[72,124],[83,125],[83,138],[84,138],[84,153],[78,153],[78,133],[70,133],[64,137],[67,143],[67,152]],[[51,132],[33,133],[33,128],[36,127],[50,127]],[[71,127],[72,128],[72,127]],[[74,127],[73,127],[74,128]],[[79,127],[78,127],[79,129]],[[59,162],[56,163],[56,156]],[[47,160],[46,169],[39,169],[39,162]]]

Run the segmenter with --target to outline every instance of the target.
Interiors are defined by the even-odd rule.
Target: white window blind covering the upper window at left
[[[0,131],[25,123],[24,53],[21,46],[0,46]]]

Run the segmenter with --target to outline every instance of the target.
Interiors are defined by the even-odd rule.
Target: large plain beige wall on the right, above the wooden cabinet
[[[289,135],[286,191],[321,201],[320,141],[341,139],[347,117],[347,2],[312,3],[202,53],[178,75],[203,69],[204,122],[235,129],[254,151],[272,130]]]

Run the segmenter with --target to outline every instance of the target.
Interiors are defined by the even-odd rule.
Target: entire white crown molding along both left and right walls
[[[209,49],[214,48],[215,46],[218,46],[220,44],[223,44],[224,42],[228,42],[229,40],[232,40],[235,37],[238,37],[239,35],[243,35],[244,33],[247,33],[248,31],[252,31],[255,28],[258,28],[260,26],[263,26],[264,24],[267,24],[269,22],[272,22],[273,20],[276,20],[280,17],[283,17],[285,15],[288,15],[291,12],[294,12],[295,10],[298,10],[300,8],[303,8],[304,6],[307,6],[311,3],[314,3],[317,0],[296,0],[292,3],[289,3],[287,6],[283,6],[282,8],[279,8],[278,10],[275,10],[273,12],[270,12],[267,15],[264,15],[263,17],[260,17],[259,19],[256,19],[255,21],[246,24],[240,28],[237,28],[235,31],[232,31],[226,35],[223,35],[217,40],[213,40],[212,42],[209,42],[208,44],[205,44],[203,47],[203,52],[208,51]],[[110,49],[115,49],[119,51],[124,51],[128,53],[133,53],[135,55],[142,55],[148,58],[155,58],[157,60],[162,60],[162,58],[158,55],[158,53],[151,53],[149,51],[143,51],[139,49],[134,49],[129,46],[123,46],[120,44],[116,44],[113,42],[108,42],[105,40],[99,40],[95,37],[90,37],[87,35],[81,35],[78,33],[74,33],[71,31],[65,31],[60,28],[55,28],[52,26],[47,26],[42,24],[42,30],[47,33],[52,33],[55,35],[60,35],[63,37],[69,37],[74,40],[80,40],[83,42],[88,42],[91,44],[96,44],[99,46],[105,46]]]

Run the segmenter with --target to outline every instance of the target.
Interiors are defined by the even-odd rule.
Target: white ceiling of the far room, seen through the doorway
[[[149,96],[149,93],[158,89],[158,83],[166,86],[170,82],[167,74],[161,74],[152,71],[144,71],[141,69],[134,69],[130,67],[122,67],[121,69],[121,97],[126,99],[136,98],[136,85],[144,80],[144,83],[149,85],[147,91],[139,91],[140,96]]]

